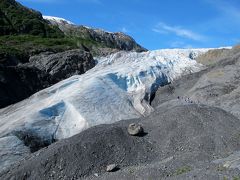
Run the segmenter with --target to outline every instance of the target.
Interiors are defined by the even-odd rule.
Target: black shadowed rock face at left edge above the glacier
[[[35,67],[0,66],[0,108],[21,101],[51,83],[50,77]]]

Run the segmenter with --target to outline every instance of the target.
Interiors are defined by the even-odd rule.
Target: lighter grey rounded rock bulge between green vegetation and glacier
[[[83,74],[95,65],[92,55],[82,50],[70,50],[56,54],[42,53],[32,56],[29,61],[30,66],[46,72],[55,82]]]

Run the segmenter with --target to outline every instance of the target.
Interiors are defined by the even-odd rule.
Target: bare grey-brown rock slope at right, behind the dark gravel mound
[[[212,52],[208,53],[211,56]],[[226,51],[215,62],[204,71],[160,88],[152,105],[157,107],[179,97],[179,101],[219,107],[240,118],[240,48]]]

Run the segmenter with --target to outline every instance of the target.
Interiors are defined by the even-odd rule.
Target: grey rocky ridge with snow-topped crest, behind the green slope
[[[98,42],[102,46],[101,50],[104,50],[103,48],[105,47],[126,51],[146,51],[132,37],[121,32],[112,33],[101,29],[77,26],[70,21],[58,17],[43,16],[43,18],[48,20],[52,25],[57,25],[67,36]],[[88,46],[88,48],[95,53],[100,53],[94,46]]]

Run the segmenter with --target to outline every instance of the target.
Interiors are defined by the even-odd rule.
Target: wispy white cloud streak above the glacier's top
[[[180,26],[169,26],[162,22],[158,23],[156,27],[153,28],[152,30],[160,34],[173,33],[179,37],[184,37],[184,38],[192,39],[195,41],[203,41],[206,39],[205,36],[200,35],[198,33],[194,33],[191,30],[184,29]]]

